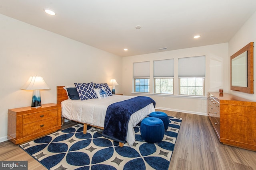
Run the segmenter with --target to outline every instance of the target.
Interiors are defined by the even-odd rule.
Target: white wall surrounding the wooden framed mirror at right
[[[254,42],[254,80],[256,77],[256,12],[244,23],[244,25],[239,29],[239,31],[234,35],[234,37],[229,41],[229,80],[230,80],[230,56],[239,51],[242,47],[250,42]],[[230,82],[229,82],[230,86]],[[230,89],[230,88],[229,88]],[[246,98],[252,101],[256,101],[256,82],[254,81],[254,94],[247,94],[242,92],[236,92],[230,90],[231,94]]]

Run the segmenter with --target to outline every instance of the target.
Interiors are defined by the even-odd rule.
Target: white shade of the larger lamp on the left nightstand
[[[44,82],[44,79],[40,76],[30,76],[28,81],[20,88],[22,90],[40,90],[50,89],[50,87]]]

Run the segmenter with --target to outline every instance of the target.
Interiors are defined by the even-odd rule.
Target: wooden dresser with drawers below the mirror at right
[[[209,92],[208,116],[220,142],[256,151],[256,102]]]

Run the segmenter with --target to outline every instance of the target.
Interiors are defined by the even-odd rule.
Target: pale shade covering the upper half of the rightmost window
[[[205,77],[205,56],[180,58],[178,60],[179,77]]]

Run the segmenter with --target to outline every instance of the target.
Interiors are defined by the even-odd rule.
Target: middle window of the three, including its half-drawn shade
[[[158,94],[173,94],[174,59],[154,61],[154,90]]]

